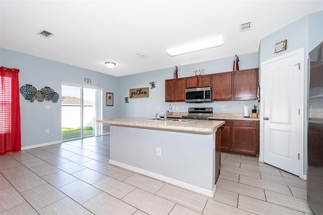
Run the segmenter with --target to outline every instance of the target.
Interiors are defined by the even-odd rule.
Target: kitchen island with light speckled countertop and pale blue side
[[[220,174],[224,121],[172,122],[147,118],[110,124],[109,163],[210,197]]]

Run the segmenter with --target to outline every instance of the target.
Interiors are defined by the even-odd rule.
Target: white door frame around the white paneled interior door
[[[299,133],[299,155],[300,155],[300,163],[299,163],[299,177],[301,179],[306,180],[306,175],[304,175],[304,48],[297,49],[295,51],[291,51],[286,53],[285,55],[264,61],[260,63],[260,134],[259,134],[259,162],[263,163],[263,156],[264,156],[264,125],[263,125],[263,117],[264,117],[264,99],[261,97],[261,95],[264,95],[264,89],[261,86],[264,86],[263,83],[265,80],[263,80],[263,75],[261,75],[261,72],[263,71],[263,68],[266,64],[273,63],[275,61],[280,61],[285,58],[294,56],[294,55],[300,55],[300,133]]]

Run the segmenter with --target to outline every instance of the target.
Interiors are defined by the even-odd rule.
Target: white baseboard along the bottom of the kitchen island
[[[147,170],[143,170],[143,169],[140,169],[140,168],[137,168],[137,167],[127,165],[127,164],[116,162],[115,160],[112,160],[112,159],[109,160],[109,164],[112,164],[112,165],[115,165],[115,166],[130,170],[132,172],[139,173],[139,174],[142,174],[142,175],[154,178],[154,179],[158,179],[160,181],[164,181],[166,183],[173,184],[175,186],[182,187],[184,189],[191,190],[191,191],[206,195],[206,196],[211,197],[211,198],[214,197],[214,194],[216,193],[216,190],[217,190],[216,185],[214,185],[212,190],[207,190],[205,188],[201,188],[201,187],[198,187],[198,186],[195,186],[195,185],[192,185],[192,184],[188,184],[188,183],[176,180],[176,179],[172,179],[172,178],[169,178],[169,177],[166,177],[166,176],[163,176],[163,175],[159,175],[159,174],[147,171]]]

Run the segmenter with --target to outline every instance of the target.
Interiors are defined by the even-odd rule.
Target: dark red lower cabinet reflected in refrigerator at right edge
[[[323,124],[308,123],[308,164],[322,166],[323,164]]]

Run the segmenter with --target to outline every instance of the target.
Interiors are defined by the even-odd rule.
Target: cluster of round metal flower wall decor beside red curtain
[[[20,87],[20,93],[25,97],[26,100],[30,102],[37,101],[42,102],[43,100],[52,101],[54,103],[58,102],[60,95],[55,92],[50,87],[43,87],[37,90],[36,87],[31,84],[26,84]]]

